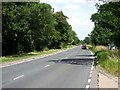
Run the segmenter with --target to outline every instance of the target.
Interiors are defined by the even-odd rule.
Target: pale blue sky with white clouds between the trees
[[[40,2],[49,3],[55,12],[63,11],[80,40],[84,40],[93,30],[94,23],[90,18],[97,12],[96,0],[40,0]]]

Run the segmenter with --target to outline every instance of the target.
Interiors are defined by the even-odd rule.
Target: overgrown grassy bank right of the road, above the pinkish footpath
[[[105,46],[88,46],[98,57],[98,65],[106,72],[118,76],[118,61],[120,60],[119,50],[111,51]]]

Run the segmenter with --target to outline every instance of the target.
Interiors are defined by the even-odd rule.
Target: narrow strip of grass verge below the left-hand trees
[[[63,49],[50,49],[46,51],[34,51],[34,52],[29,52],[29,53],[23,53],[23,54],[17,54],[17,55],[10,55],[10,56],[4,56],[0,57],[0,62],[2,63],[7,63],[7,62],[14,62],[18,60],[24,60],[24,59],[29,59],[29,58],[35,58],[35,57],[40,57],[40,56],[45,56],[48,54],[53,54],[55,52],[67,50],[70,48],[75,47],[74,45],[67,46],[66,48]]]

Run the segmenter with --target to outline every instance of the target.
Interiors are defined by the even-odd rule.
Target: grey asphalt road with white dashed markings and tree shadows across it
[[[2,68],[2,88],[85,88],[91,52],[76,47],[37,60]]]

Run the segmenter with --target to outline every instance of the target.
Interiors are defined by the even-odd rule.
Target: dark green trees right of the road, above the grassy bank
[[[120,2],[98,5],[97,13],[92,14],[94,29],[85,38],[94,45],[115,44],[120,48]]]

